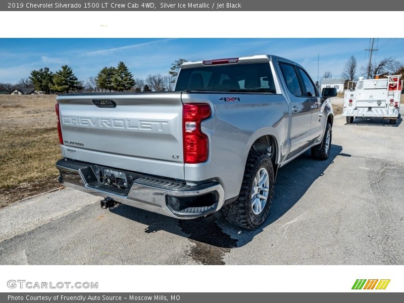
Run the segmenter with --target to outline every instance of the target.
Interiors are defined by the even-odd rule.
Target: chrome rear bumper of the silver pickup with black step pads
[[[59,181],[67,187],[178,219],[206,216],[224,204],[224,190],[217,182],[189,186],[134,173],[137,178],[123,190],[100,183],[90,164],[62,159],[56,167],[61,175]]]

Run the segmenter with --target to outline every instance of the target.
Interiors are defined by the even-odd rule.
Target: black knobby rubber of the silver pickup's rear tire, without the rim
[[[259,215],[254,214],[251,206],[251,191],[254,179],[261,168],[266,168],[269,178],[268,198]],[[267,219],[274,192],[274,168],[271,158],[266,154],[250,153],[245,165],[243,182],[237,200],[223,207],[227,221],[245,229],[256,229]]]

